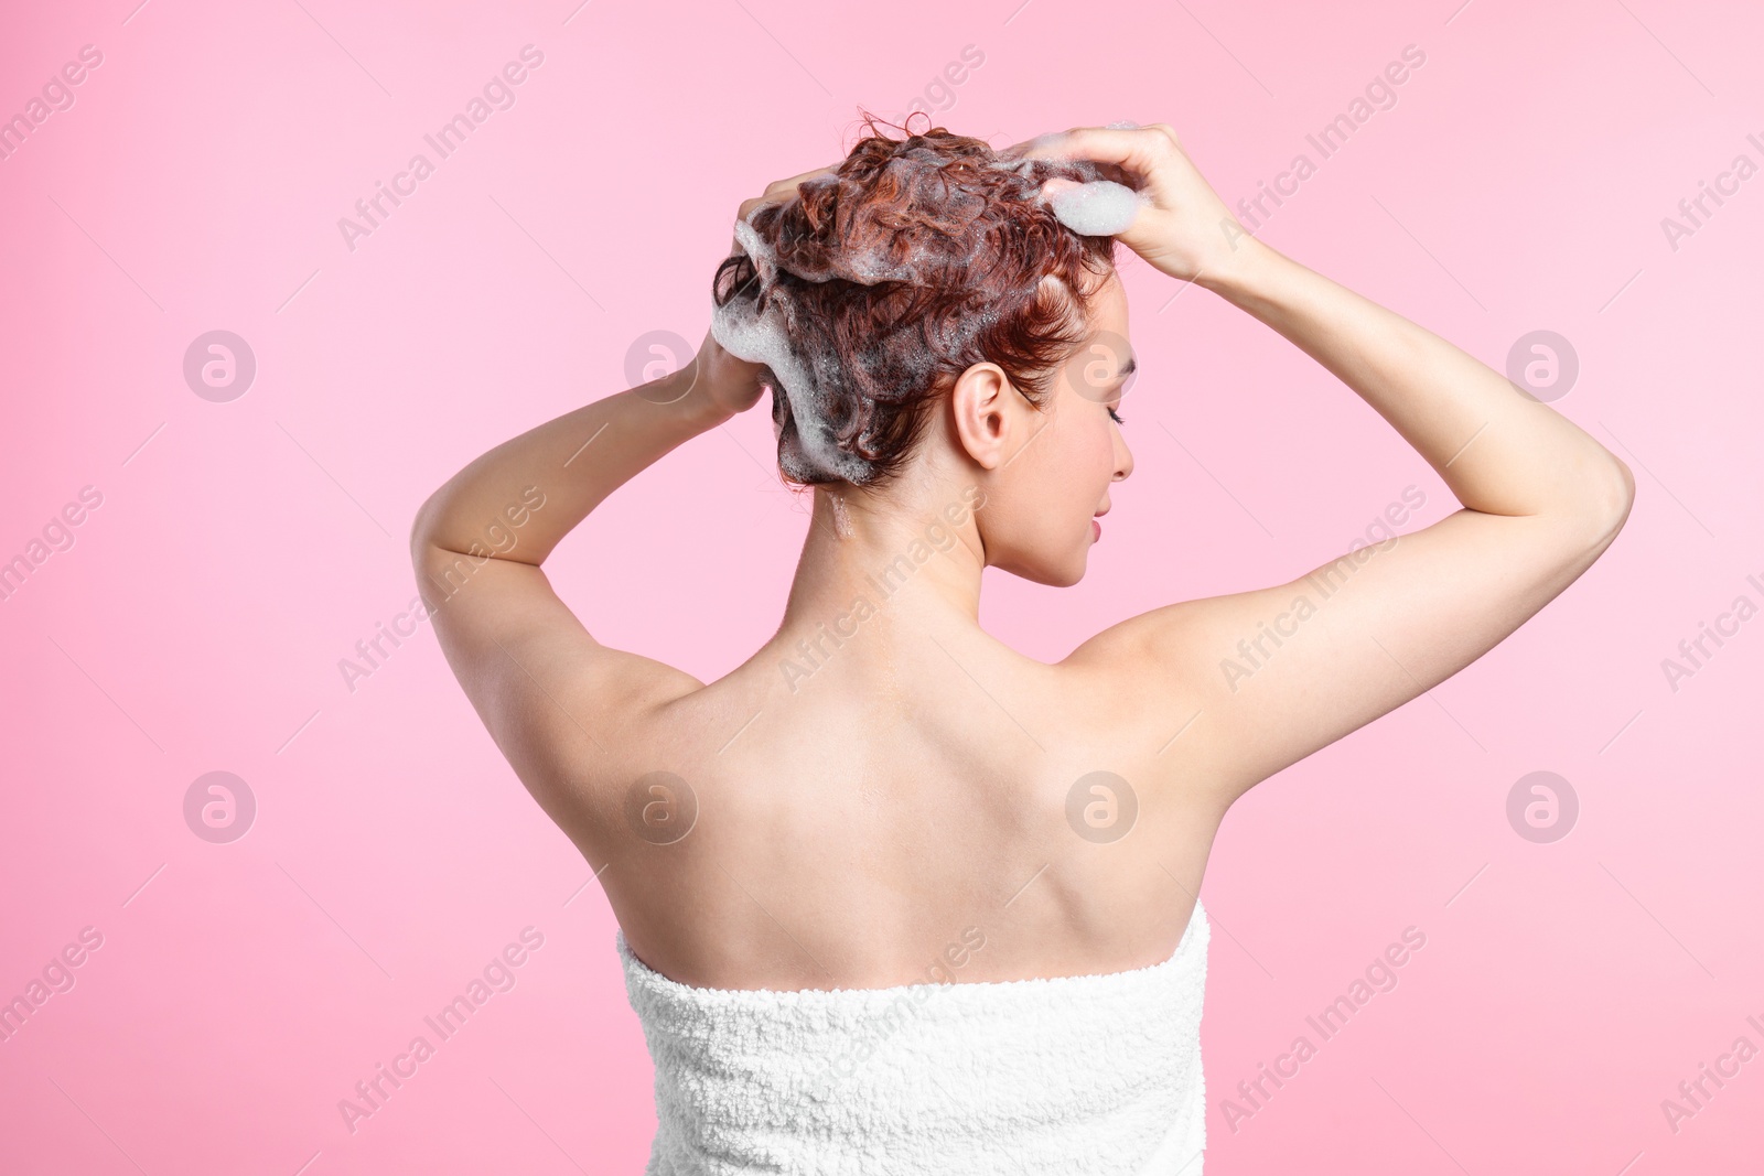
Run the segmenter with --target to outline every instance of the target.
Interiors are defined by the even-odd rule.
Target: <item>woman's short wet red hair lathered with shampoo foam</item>
[[[863,478],[810,460],[767,372],[778,465],[801,485],[891,480],[930,406],[975,363],[997,363],[1030,404],[1044,404],[1088,331],[1088,296],[1115,272],[1113,238],[1074,233],[1039,199],[1053,176],[1095,180],[1094,164],[1000,159],[983,139],[942,127],[914,134],[868,113],[863,127],[833,175],[748,219],[776,268],[771,280],[746,252],[713,280],[718,307],[744,298],[759,314],[780,303],[838,448],[863,458]]]

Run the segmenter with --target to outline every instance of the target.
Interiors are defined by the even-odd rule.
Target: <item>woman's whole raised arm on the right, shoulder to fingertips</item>
[[[1154,199],[1124,243],[1289,339],[1432,465],[1462,510],[1288,584],[1185,601],[1081,645],[1073,666],[1138,677],[1148,741],[1230,802],[1402,705],[1573,584],[1628,517],[1628,467],[1573,421],[1432,331],[1242,233],[1168,125],[1055,146],[1120,164]],[[1192,778],[1191,778],[1192,779]]]

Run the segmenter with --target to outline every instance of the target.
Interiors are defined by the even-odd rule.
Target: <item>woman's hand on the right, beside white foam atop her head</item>
[[[1170,123],[1136,129],[1073,127],[1018,143],[1005,159],[1088,159],[1106,173],[1124,173],[1145,194],[1132,224],[1115,234],[1122,245],[1173,279],[1192,282],[1228,270],[1254,243],[1219,194],[1182,150]]]

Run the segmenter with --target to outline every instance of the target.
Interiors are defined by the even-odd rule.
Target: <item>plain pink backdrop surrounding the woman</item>
[[[651,1070],[600,887],[427,626],[353,691],[339,672],[415,594],[416,506],[628,386],[646,331],[697,342],[736,205],[843,153],[857,104],[903,113],[963,46],[984,63],[931,85],[951,129],[1168,120],[1235,203],[1318,162],[1305,134],[1415,44],[1397,104],[1263,234],[1496,368],[1565,335],[1581,377],[1554,404],[1628,460],[1637,502],[1499,649],[1226,820],[1208,1172],[1755,1171],[1764,1060],[1676,1132],[1662,1100],[1734,1038],[1764,1047],[1764,621],[1676,691],[1660,665],[1736,596],[1764,603],[1764,178],[1676,250],[1660,224],[1736,155],[1764,162],[1755,9],[134,4],[0,18],[0,116],[104,55],[0,160],[0,561],[102,494],[0,601],[0,1000],[102,934],[0,1042],[0,1169],[637,1172]],[[351,250],[337,220],[526,44],[545,56],[515,106]],[[1081,585],[991,582],[995,633],[1057,659],[1295,577],[1404,487],[1427,495],[1409,527],[1455,506],[1286,340],[1205,291],[1170,301],[1143,264],[1125,280],[1138,473]],[[256,354],[236,400],[183,381],[210,330]],[[750,414],[614,495],[556,578],[603,640],[714,677],[776,624],[804,524]],[[183,818],[210,770],[258,802],[228,845]],[[1506,820],[1533,770],[1581,799],[1556,843]],[[529,926],[517,986],[351,1132],[339,1100]],[[1305,1016],[1409,926],[1427,945],[1399,986],[1233,1130],[1237,1083],[1316,1042]]]

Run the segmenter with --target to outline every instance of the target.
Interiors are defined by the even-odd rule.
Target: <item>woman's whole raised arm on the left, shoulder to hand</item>
[[[753,367],[706,337],[693,363],[594,400],[478,457],[411,527],[441,649],[492,739],[566,830],[573,793],[617,770],[617,732],[700,682],[596,642],[540,569],[609,494],[759,398]]]

